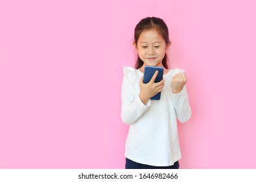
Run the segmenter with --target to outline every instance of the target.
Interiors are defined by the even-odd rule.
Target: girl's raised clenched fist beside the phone
[[[173,94],[178,94],[183,86],[186,85],[188,79],[185,73],[177,73],[171,79],[171,88],[173,89]]]

